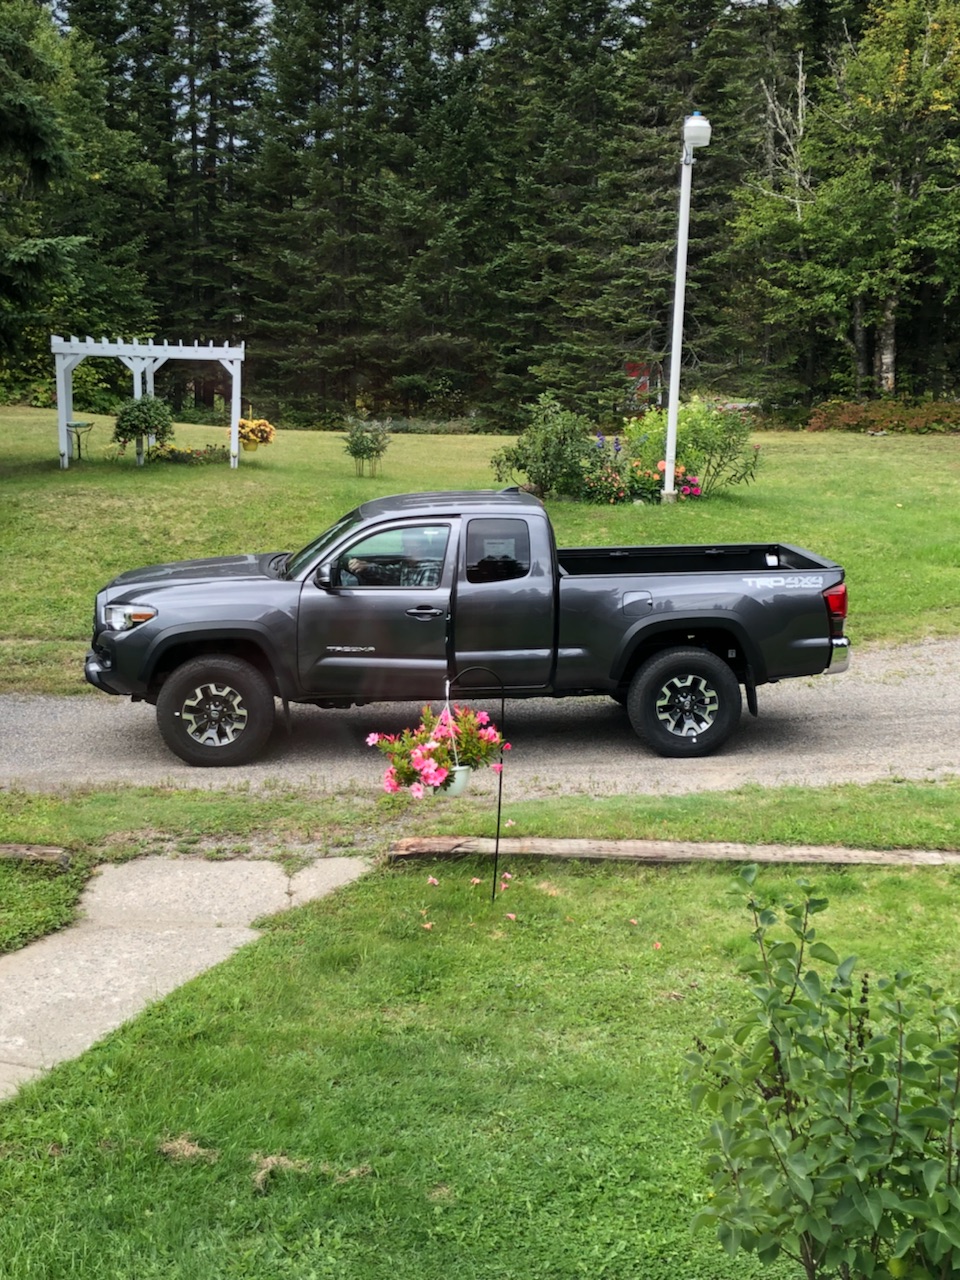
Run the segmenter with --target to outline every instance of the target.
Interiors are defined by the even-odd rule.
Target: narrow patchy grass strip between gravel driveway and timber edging
[[[742,787],[684,796],[507,803],[502,833],[524,837],[960,850],[960,780]],[[59,845],[69,867],[0,860],[0,954],[69,924],[97,863],[145,855],[383,858],[408,836],[494,836],[475,797],[417,804],[403,796],[178,791],[165,787],[0,792],[0,844]]]

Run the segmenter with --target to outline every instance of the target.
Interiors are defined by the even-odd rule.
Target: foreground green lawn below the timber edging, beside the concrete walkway
[[[728,870],[500,869],[493,902],[433,864],[275,916],[0,1108],[0,1275],[795,1276],[687,1230],[682,1055],[749,998]],[[838,952],[960,980],[954,872],[817,886]]]

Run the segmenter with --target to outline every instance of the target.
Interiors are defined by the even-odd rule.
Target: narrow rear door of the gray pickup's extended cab
[[[453,604],[454,672],[485,667],[507,689],[544,689],[553,672],[553,544],[547,521],[483,516],[465,521]],[[470,672],[457,690],[498,690]]]

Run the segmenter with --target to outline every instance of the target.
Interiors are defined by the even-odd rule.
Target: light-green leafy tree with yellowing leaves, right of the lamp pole
[[[742,262],[780,351],[817,332],[818,367],[794,362],[812,393],[893,392],[904,348],[913,389],[957,375],[941,342],[931,381],[910,329],[918,314],[925,337],[956,325],[959,54],[954,4],[877,9],[806,104],[787,163],[744,197]]]

